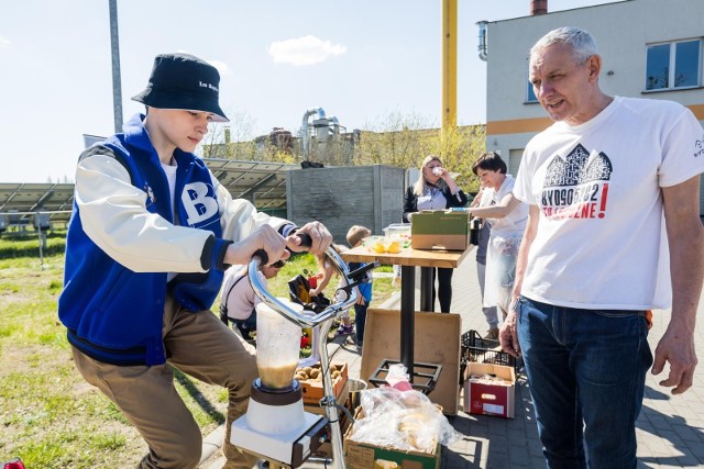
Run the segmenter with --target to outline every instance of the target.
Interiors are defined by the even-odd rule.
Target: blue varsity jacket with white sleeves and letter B
[[[162,322],[167,290],[193,312],[208,310],[227,247],[262,224],[289,222],[256,211],[190,153],[176,149],[174,209],[166,175],[138,114],[123,133],[88,148],[76,172],[58,316],[68,342],[99,361],[166,361]],[[167,273],[178,272],[168,282]]]

